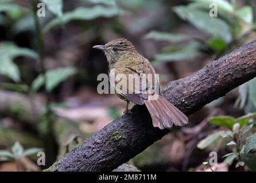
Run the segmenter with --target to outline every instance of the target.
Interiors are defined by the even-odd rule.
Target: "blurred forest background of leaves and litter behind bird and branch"
[[[38,3],[46,6],[38,17]],[[218,17],[210,17],[210,3]],[[161,86],[253,41],[253,0],[0,0],[0,171],[40,171],[121,116],[99,95],[107,73],[92,46],[125,37],[160,73]],[[140,170],[253,171],[256,79],[189,117],[129,161]],[[38,166],[37,152],[46,154]],[[210,165],[210,152],[218,164]]]

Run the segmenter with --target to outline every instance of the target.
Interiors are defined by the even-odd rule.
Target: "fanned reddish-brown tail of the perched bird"
[[[154,94],[144,102],[149,110],[154,127],[170,129],[173,124],[176,126],[188,124],[188,117],[164,97]]]

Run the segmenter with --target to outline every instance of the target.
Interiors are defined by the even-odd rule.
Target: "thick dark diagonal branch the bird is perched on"
[[[189,77],[170,82],[162,94],[189,115],[256,77],[256,41],[211,62]],[[145,106],[135,106],[62,157],[49,170],[111,171],[160,140],[169,130],[152,126]]]

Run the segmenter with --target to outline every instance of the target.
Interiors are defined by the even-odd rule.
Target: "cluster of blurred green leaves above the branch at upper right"
[[[212,3],[215,3],[216,9],[215,6],[210,6]],[[215,10],[212,15],[216,13],[217,17],[210,15],[211,10]],[[176,43],[169,51],[162,49],[163,53],[154,57],[156,61],[172,62],[198,58],[205,54],[204,50],[211,50],[211,55],[219,57],[230,52],[233,47],[241,46],[244,43],[243,37],[247,37],[254,29],[252,7],[243,6],[238,9],[235,4],[224,0],[193,0],[188,5],[173,7],[173,11],[210,37],[201,39],[195,35],[150,31],[146,37]],[[197,45],[190,47],[187,46],[188,42],[197,42]],[[181,45],[178,53],[175,49],[177,44]]]

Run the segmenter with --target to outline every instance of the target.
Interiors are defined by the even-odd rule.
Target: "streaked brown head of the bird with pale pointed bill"
[[[110,41],[106,45],[96,45],[93,48],[103,50],[109,63],[117,62],[124,55],[136,52],[133,44],[125,38]]]

